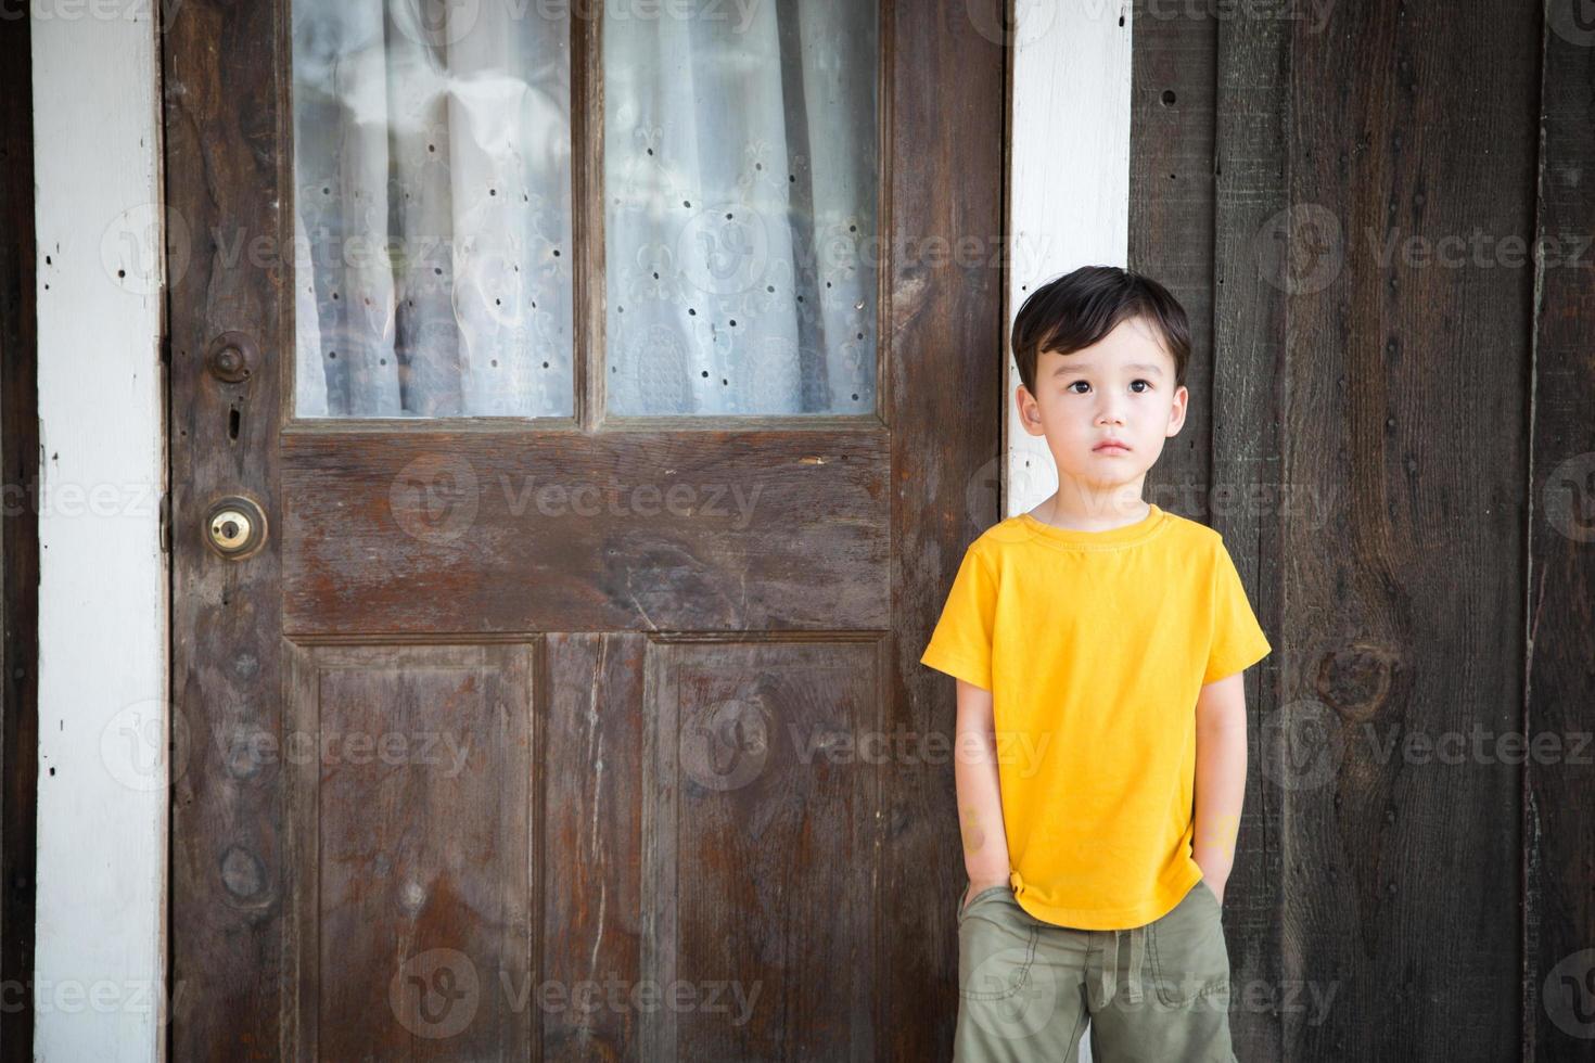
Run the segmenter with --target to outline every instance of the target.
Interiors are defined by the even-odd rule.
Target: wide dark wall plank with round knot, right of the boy
[[[1337,996],[1317,1025],[1284,1015],[1282,1057],[1504,1060],[1522,1047],[1522,768],[1490,743],[1461,759],[1384,743],[1523,725],[1534,277],[1495,244],[1451,265],[1400,247],[1531,236],[1541,18],[1531,5],[1338,5],[1322,32],[1290,32],[1289,121],[1271,126],[1292,135],[1298,210],[1284,226],[1297,253],[1286,359],[1241,357],[1228,387],[1284,384],[1282,478],[1335,500],[1322,526],[1289,513],[1279,548],[1263,545],[1278,567],[1260,585],[1282,575],[1290,606],[1268,601],[1282,642],[1309,652],[1286,658],[1281,698],[1340,739],[1322,751],[1324,784],[1284,795],[1281,974]],[[1235,112],[1278,115],[1278,88]],[[1279,161],[1220,142],[1227,172]],[[1273,344],[1279,331],[1236,335]],[[1271,410],[1217,411],[1241,433],[1215,440],[1219,457],[1265,456],[1246,441],[1266,437]]]

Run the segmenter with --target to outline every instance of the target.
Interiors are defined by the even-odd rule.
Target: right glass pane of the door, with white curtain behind
[[[877,18],[605,19],[609,413],[874,411]]]

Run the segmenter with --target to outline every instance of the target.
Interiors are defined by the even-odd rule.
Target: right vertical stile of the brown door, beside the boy
[[[1008,49],[981,33],[1003,24],[1002,0],[888,5],[887,178],[900,239],[998,241]],[[927,76],[927,72],[943,72]],[[947,72],[955,72],[955,76]],[[994,245],[992,242],[984,244]],[[893,260],[880,338],[892,433],[893,641],[885,728],[954,732],[954,685],[919,663],[963,550],[1000,520],[983,481],[1000,475],[1005,277]],[[957,1020],[957,926],[963,853],[951,763],[882,765],[880,912],[874,1028],[880,1058],[944,1060]]]

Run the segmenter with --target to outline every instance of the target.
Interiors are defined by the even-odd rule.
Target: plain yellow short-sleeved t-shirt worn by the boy
[[[1072,531],[1029,513],[963,555],[919,658],[992,692],[1019,905],[1128,929],[1201,878],[1196,698],[1271,650],[1223,537],[1156,505]]]

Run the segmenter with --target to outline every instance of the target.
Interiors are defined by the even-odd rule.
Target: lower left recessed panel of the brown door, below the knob
[[[290,647],[293,1058],[530,1058],[530,645]]]

